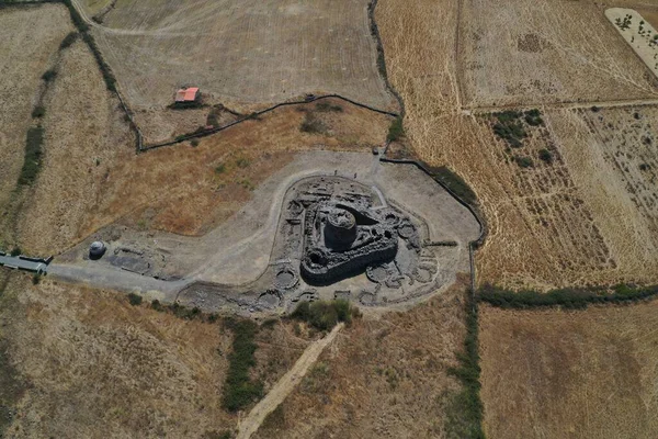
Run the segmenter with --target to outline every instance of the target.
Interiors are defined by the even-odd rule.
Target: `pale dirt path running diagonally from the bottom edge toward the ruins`
[[[333,341],[338,333],[343,327],[343,324],[338,324],[329,335],[325,338],[314,341],[302,357],[297,360],[295,365],[286,372],[285,375],[272,387],[272,390],[261,399],[260,403],[253,407],[253,409],[242,419],[239,424],[239,432],[237,439],[248,439],[253,435],[261,426],[265,417],[272,413],[286,396],[295,389],[299,381],[304,378],[306,372],[317,361],[320,353],[327,346]]]

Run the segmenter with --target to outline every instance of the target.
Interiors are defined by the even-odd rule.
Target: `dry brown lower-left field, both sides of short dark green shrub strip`
[[[0,301],[0,403],[13,389],[16,410],[5,437],[201,438],[236,427],[220,406],[232,340],[220,323],[23,274]],[[290,324],[261,328],[253,378],[268,390],[307,344]]]

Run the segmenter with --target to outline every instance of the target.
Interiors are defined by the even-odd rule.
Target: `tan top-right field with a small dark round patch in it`
[[[460,24],[467,106],[658,94],[656,78],[593,3],[467,0]]]

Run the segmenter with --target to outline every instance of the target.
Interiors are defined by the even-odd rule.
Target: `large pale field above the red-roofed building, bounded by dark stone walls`
[[[78,1],[91,15],[93,1]],[[367,0],[122,0],[93,35],[135,109],[163,108],[183,85],[212,102],[264,104],[337,92],[390,106]]]

